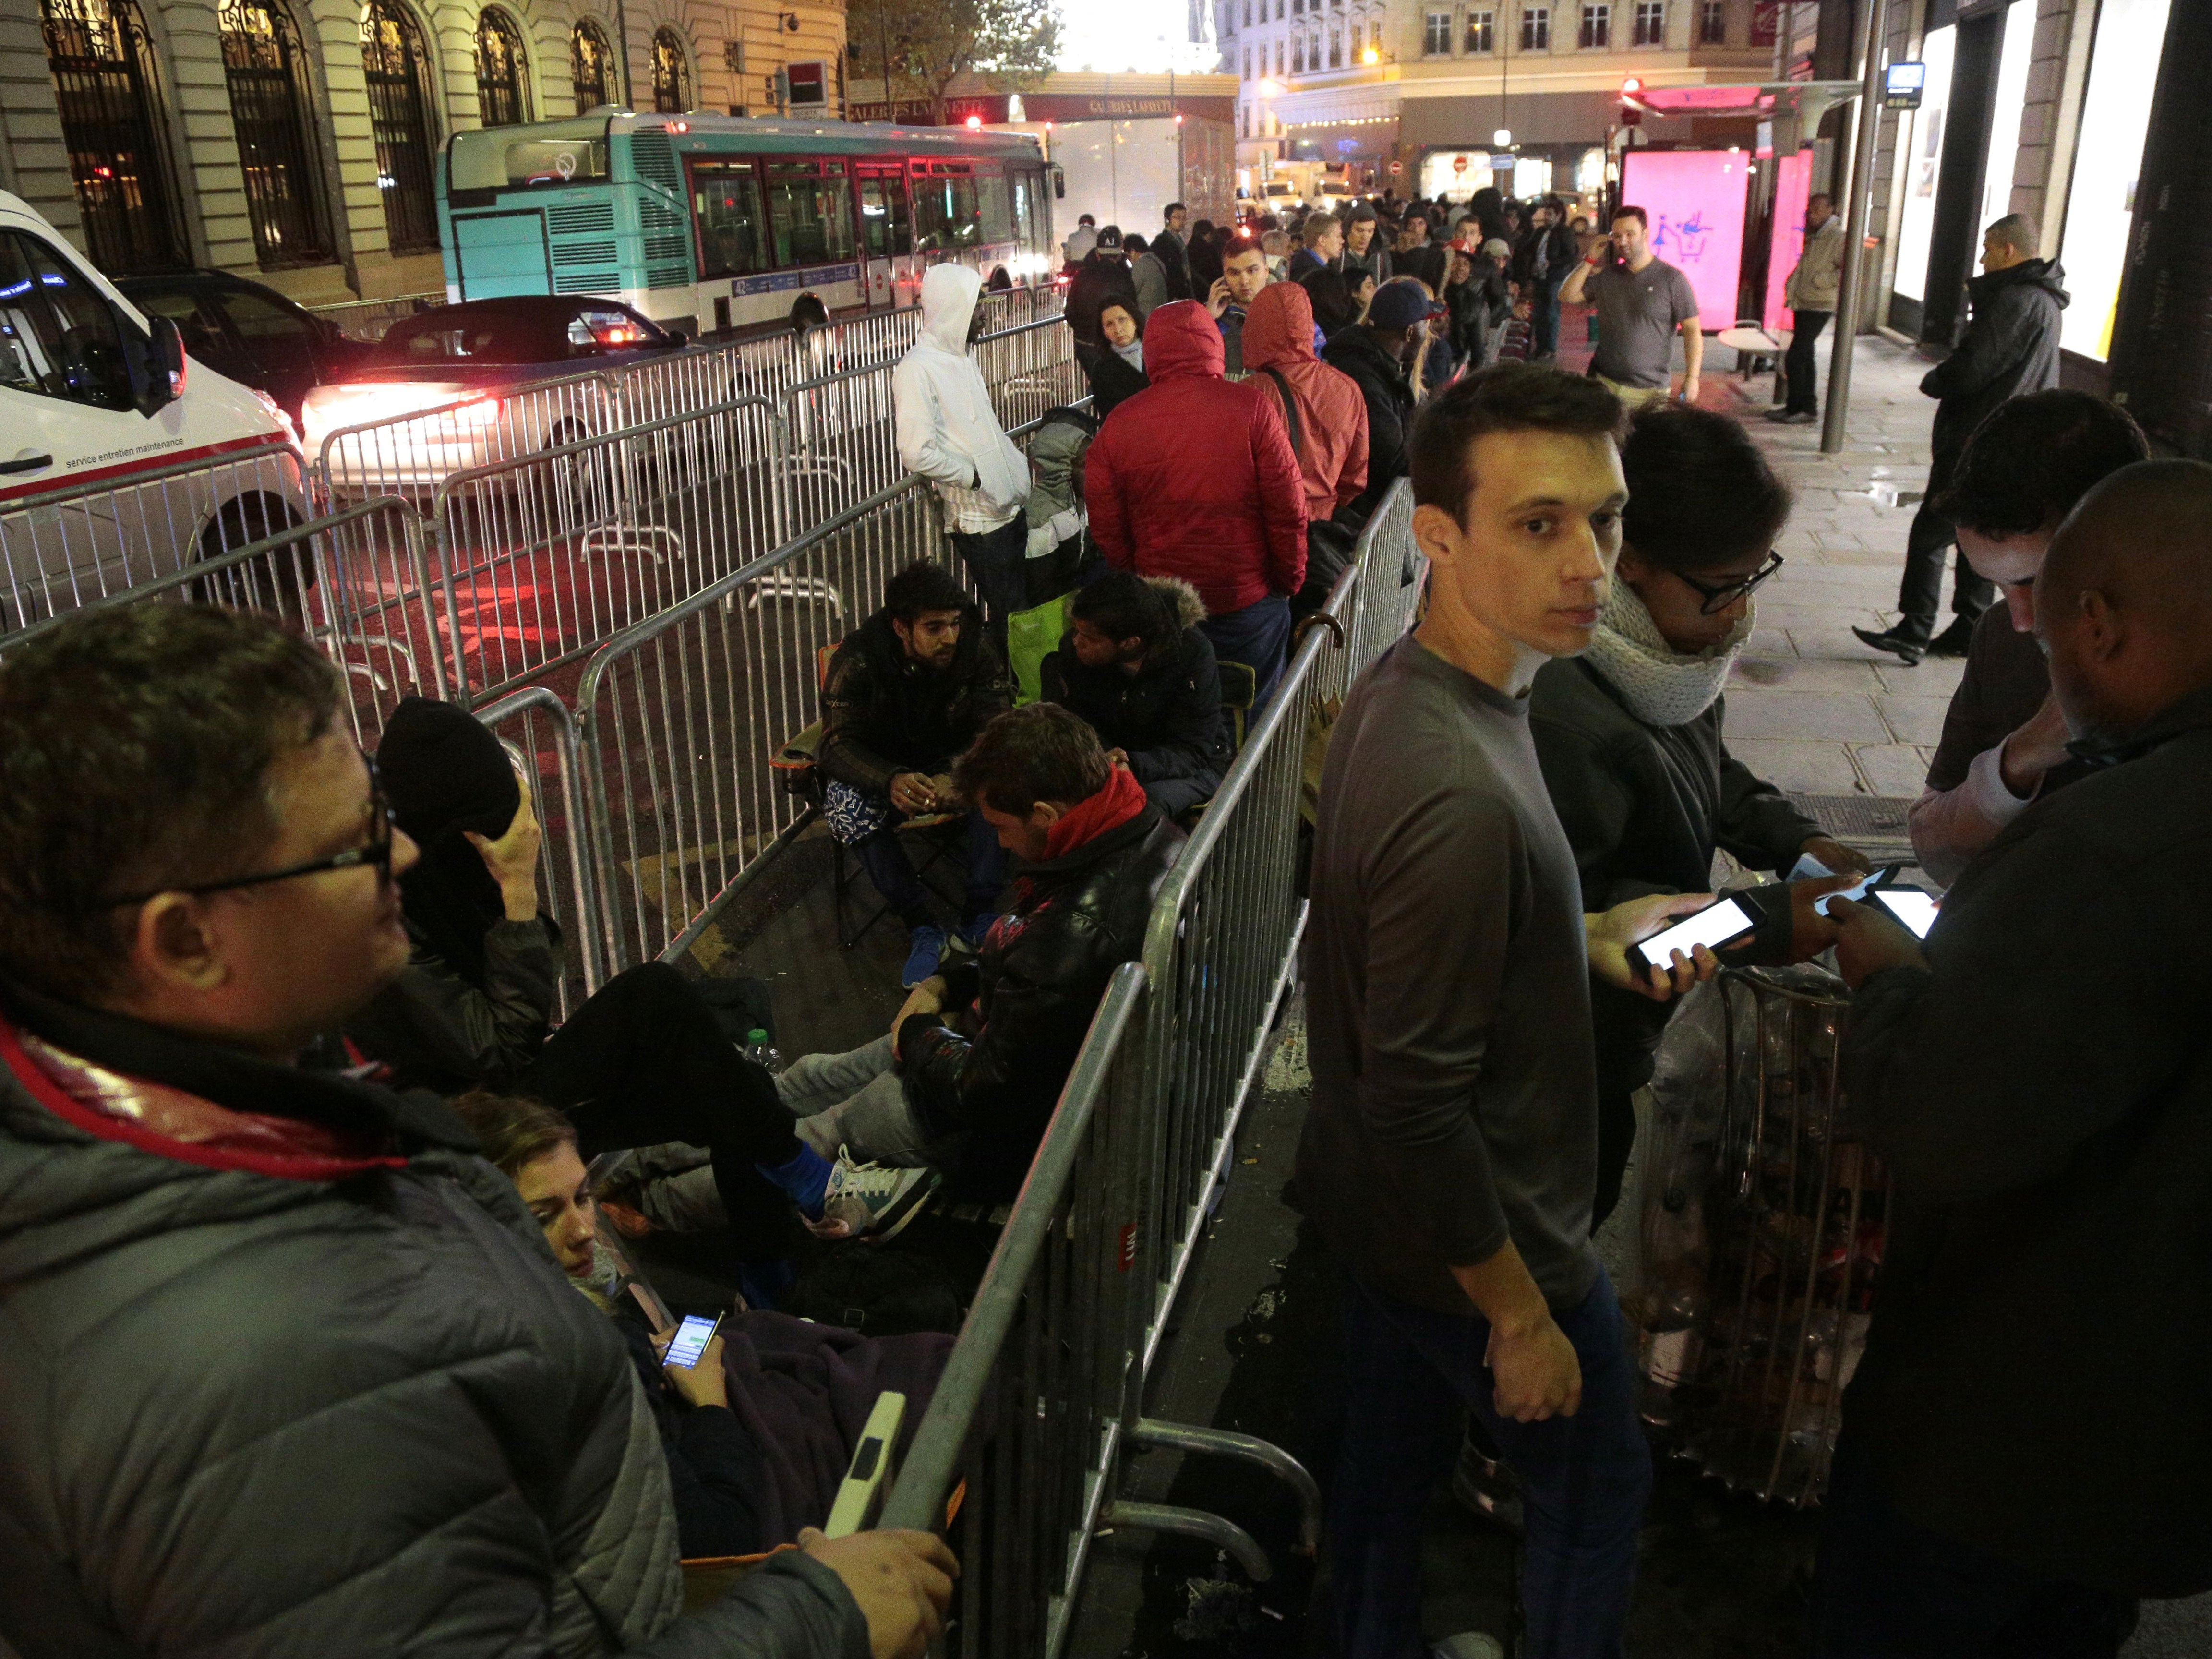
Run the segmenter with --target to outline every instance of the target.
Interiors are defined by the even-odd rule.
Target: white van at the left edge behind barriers
[[[0,190],[0,639],[303,524],[303,478],[274,400],[188,361],[170,319]],[[181,586],[237,597],[272,575]],[[314,575],[274,580],[296,606]]]

